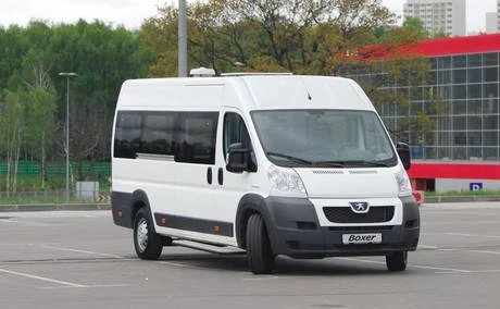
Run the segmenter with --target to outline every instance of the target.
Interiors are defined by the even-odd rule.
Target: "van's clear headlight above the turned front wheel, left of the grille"
[[[300,176],[293,170],[282,170],[270,166],[267,177],[273,184],[272,193],[276,195],[299,194],[305,196],[305,188]]]

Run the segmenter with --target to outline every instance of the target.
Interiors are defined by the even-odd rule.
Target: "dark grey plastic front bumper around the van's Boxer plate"
[[[413,198],[401,198],[402,224],[363,226],[321,226],[314,206],[308,199],[268,197],[266,227],[273,251],[293,258],[333,256],[385,256],[416,250],[420,211]],[[343,234],[380,233],[382,244],[343,245]]]

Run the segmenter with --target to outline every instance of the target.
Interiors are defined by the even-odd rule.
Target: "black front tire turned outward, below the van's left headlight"
[[[267,274],[274,268],[274,255],[264,220],[258,213],[252,214],[247,224],[248,265],[254,274]]]

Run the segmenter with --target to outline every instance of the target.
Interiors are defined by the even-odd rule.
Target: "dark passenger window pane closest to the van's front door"
[[[217,132],[216,112],[182,112],[177,162],[214,164]]]

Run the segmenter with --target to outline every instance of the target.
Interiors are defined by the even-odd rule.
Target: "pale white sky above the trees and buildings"
[[[190,1],[190,0],[188,0]],[[158,7],[177,0],[0,0],[0,25],[25,26],[30,20],[50,23],[74,23],[78,18],[100,20],[127,28],[139,28],[158,13]],[[405,0],[383,0],[393,13],[402,15]],[[486,12],[496,12],[496,0],[466,0],[467,33],[485,30]]]

